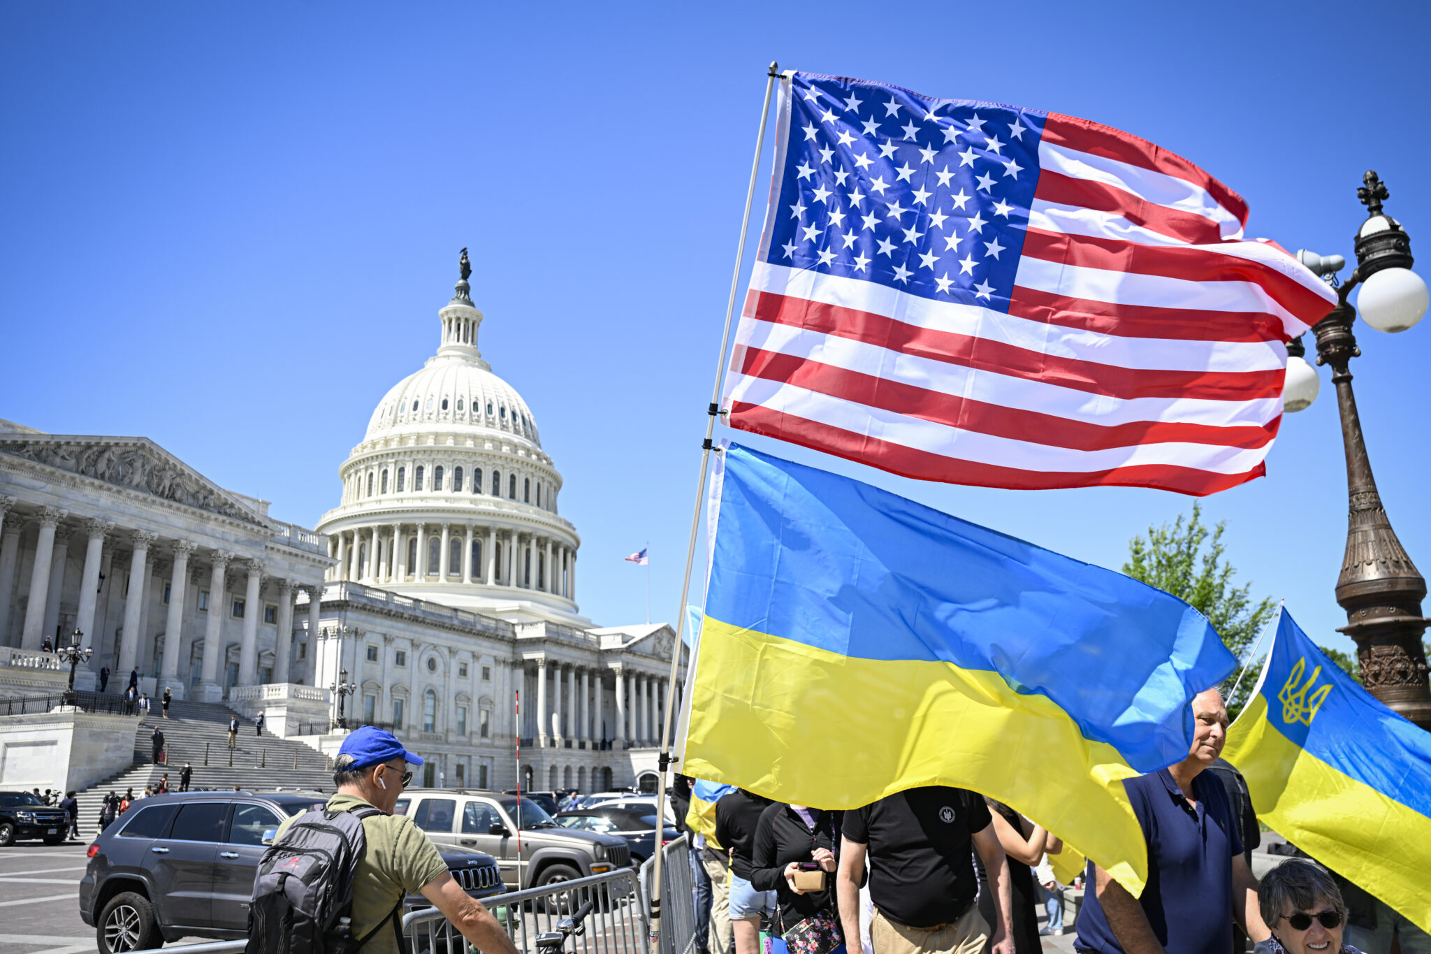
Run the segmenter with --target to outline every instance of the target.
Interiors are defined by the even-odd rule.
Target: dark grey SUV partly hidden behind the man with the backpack
[[[100,954],[159,947],[182,937],[246,935],[253,874],[279,824],[322,808],[319,792],[176,792],[135,802],[89,848],[80,917]],[[442,848],[442,860],[474,898],[499,894],[497,861]],[[406,910],[432,907],[411,895]]]

